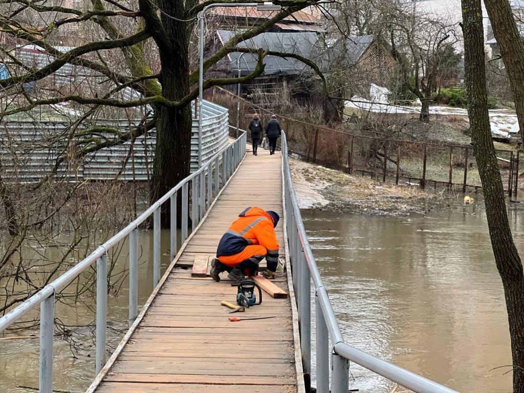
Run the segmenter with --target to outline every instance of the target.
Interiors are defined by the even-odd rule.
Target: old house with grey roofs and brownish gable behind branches
[[[217,30],[217,44],[223,46],[235,34],[238,32]],[[395,67],[389,50],[374,36],[327,40],[313,31],[265,32],[238,46],[298,54],[315,62],[326,75],[335,69],[337,72],[342,70],[345,79],[348,79],[347,75],[351,78],[358,75],[358,83],[366,85],[368,91],[371,83],[384,85],[381,83],[388,71]],[[318,94],[319,78],[308,65],[295,58],[278,56],[266,56],[264,64],[263,75],[241,86],[241,94],[248,100],[268,110],[276,110],[284,91],[299,102],[323,102]],[[212,73],[213,77],[236,78],[252,73],[256,65],[256,54],[232,52],[216,65]],[[236,92],[236,85],[228,89]]]

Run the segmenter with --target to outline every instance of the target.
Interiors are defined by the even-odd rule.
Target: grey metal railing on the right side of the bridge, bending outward
[[[311,280],[315,287],[316,318],[316,391],[347,393],[349,361],[386,377],[418,393],[456,393],[455,390],[410,372],[354,348],[344,341],[339,322],[329,300],[328,291],[305,233],[297,195],[293,189],[286,134],[282,132],[282,167],[284,174],[286,229],[297,309],[300,321],[300,345],[304,372],[311,373]],[[331,339],[329,346],[328,337]],[[332,354],[330,390],[329,354]]]

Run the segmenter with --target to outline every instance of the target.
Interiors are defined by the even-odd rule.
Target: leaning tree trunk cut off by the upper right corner
[[[485,0],[500,54],[508,71],[520,127],[524,131],[524,40],[508,0]]]

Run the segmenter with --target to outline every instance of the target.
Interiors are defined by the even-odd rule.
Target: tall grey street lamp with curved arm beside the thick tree
[[[259,11],[277,11],[281,7],[271,2],[264,3],[213,3],[206,5],[200,13],[200,72],[199,72],[199,97],[198,97],[198,167],[202,166],[202,103],[204,94],[204,15],[205,12],[213,7],[257,7]],[[238,63],[240,66],[240,63]]]

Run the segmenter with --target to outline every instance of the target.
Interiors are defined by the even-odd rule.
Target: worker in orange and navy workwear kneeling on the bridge
[[[279,216],[276,212],[260,208],[247,208],[238,215],[220,239],[216,258],[211,261],[211,277],[219,282],[219,274],[227,271],[232,281],[240,282],[260,270],[264,258],[267,269],[278,267],[278,240],[275,233]]]

